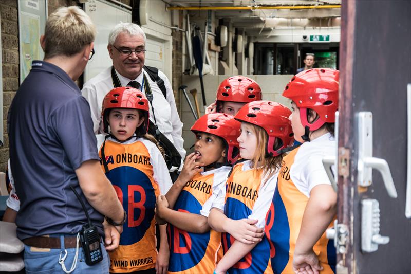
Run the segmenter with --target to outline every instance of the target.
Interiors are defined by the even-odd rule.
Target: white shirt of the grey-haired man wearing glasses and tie
[[[152,81],[150,76],[142,70],[145,74],[148,83],[150,83],[151,91],[153,94],[153,108],[156,117],[156,122],[158,129],[169,139],[181,155],[181,159],[185,157],[185,150],[183,148],[184,140],[181,136],[183,124],[181,123],[180,117],[178,116],[176,101],[174,99],[173,89],[169,82],[169,79],[161,71],[158,71],[158,76],[164,81],[164,85],[167,91],[166,97],[164,97],[161,89],[158,87],[157,83]],[[132,81],[125,78],[117,72],[117,76],[120,80],[122,86],[127,86],[127,84]],[[143,82],[143,74],[140,74],[133,81],[137,81],[140,85]],[[90,105],[91,119],[94,124],[94,132],[96,134],[104,134],[103,125],[101,123],[101,110],[103,99],[105,95],[114,88],[113,80],[111,79],[111,67],[100,72],[100,74],[88,80],[81,90],[84,98],[87,99]],[[142,92],[145,93],[145,87],[142,88]],[[154,123],[154,117],[152,113],[152,107],[150,105],[150,120]],[[181,160],[182,166],[182,160]],[[171,171],[175,170],[172,169]]]

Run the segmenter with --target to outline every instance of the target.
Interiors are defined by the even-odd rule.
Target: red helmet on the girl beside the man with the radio
[[[137,127],[137,136],[144,135],[148,131],[148,100],[137,88],[121,86],[111,89],[103,99],[103,130],[108,132],[108,113],[111,108],[133,108],[143,112],[144,122]]]

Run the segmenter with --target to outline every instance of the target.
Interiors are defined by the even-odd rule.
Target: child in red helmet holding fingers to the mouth
[[[240,123],[233,116],[210,113],[191,127],[195,152],[184,162],[167,199],[157,199],[157,214],[169,222],[169,273],[212,273],[221,233],[207,223],[211,205],[225,187],[231,164],[238,158]]]

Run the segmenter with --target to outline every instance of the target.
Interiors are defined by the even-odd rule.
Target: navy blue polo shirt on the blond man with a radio
[[[87,202],[75,170],[99,160],[90,107],[76,83],[58,66],[33,61],[9,113],[10,165],[20,198],[17,236],[74,234],[87,221],[103,234],[103,216]]]

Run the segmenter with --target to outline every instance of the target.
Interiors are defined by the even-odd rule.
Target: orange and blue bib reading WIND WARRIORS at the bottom
[[[110,272],[132,272],[155,267],[156,228],[154,209],[160,194],[154,181],[150,153],[141,141],[121,144],[105,141],[107,178],[127,212],[120,246],[110,253]],[[100,159],[101,149],[99,151]],[[103,161],[100,160],[104,171]]]

